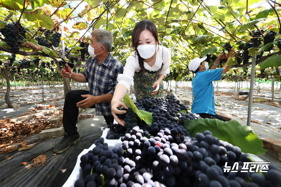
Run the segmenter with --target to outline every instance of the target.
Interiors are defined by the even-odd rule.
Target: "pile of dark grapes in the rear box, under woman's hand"
[[[167,95],[166,98],[139,99],[136,101],[136,106],[139,110],[152,113],[152,124],[147,125],[131,109],[128,109],[125,114],[118,115],[120,119],[124,119],[125,127],[111,123],[107,128],[110,128],[112,132],[107,134],[106,138],[119,139],[130,132],[134,126],[138,126],[143,131],[144,136],[148,136],[148,134],[156,136],[159,130],[169,129],[177,139],[176,136],[188,135],[182,119],[194,120],[200,118],[199,115],[188,111],[187,107],[173,95]],[[122,108],[121,110],[125,109]]]

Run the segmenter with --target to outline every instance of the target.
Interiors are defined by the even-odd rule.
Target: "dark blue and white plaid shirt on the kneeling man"
[[[88,82],[89,94],[98,96],[106,93],[114,94],[118,74],[123,73],[123,64],[109,53],[106,60],[101,64],[97,59],[90,57],[86,68],[82,72]],[[111,116],[111,102],[95,104],[96,114]]]

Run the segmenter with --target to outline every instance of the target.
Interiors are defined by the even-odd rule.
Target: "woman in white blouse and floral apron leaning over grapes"
[[[137,99],[144,97],[162,97],[163,78],[170,73],[171,52],[159,45],[157,28],[152,21],[138,22],[132,32],[132,45],[134,52],[127,58],[123,74],[119,74],[118,84],[111,100],[112,115],[120,125],[125,125],[116,114],[126,111],[118,110],[125,103],[121,102],[130,90],[134,81]]]

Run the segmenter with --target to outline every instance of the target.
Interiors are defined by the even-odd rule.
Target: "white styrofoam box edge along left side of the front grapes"
[[[93,146],[94,145],[94,146]],[[69,175],[68,179],[64,183],[62,187],[74,187],[74,183],[82,177],[82,172],[81,172],[81,167],[80,167],[80,158],[82,155],[85,155],[88,153],[88,151],[92,150],[95,147],[95,144],[93,144],[91,147],[88,149],[84,149],[77,157],[77,161],[75,164],[75,167],[73,168],[71,174]]]

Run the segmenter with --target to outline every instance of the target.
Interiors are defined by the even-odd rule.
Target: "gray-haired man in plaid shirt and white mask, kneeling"
[[[72,78],[80,83],[88,82],[88,90],[72,90],[66,94],[64,102],[64,138],[54,148],[54,153],[66,151],[72,144],[80,141],[76,121],[78,108],[95,108],[97,115],[104,116],[109,125],[114,118],[111,114],[111,99],[117,84],[118,74],[123,73],[123,65],[111,55],[113,36],[105,29],[95,29],[90,36],[88,52],[91,57],[81,74],[61,69],[64,78]],[[69,73],[70,72],[70,73]]]

